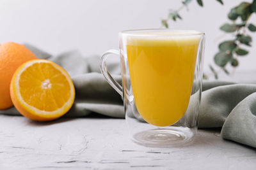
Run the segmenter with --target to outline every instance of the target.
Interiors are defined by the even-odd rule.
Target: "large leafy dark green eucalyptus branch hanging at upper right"
[[[228,18],[232,21],[232,24],[223,24],[220,29],[226,33],[232,33],[233,39],[220,43],[219,52],[214,55],[214,62],[217,66],[222,69],[225,69],[227,64],[237,67],[239,57],[249,53],[244,47],[252,46],[252,37],[248,34],[248,31],[256,31],[255,25],[248,24],[248,20],[253,13],[256,13],[256,0],[252,3],[243,2],[230,10]],[[239,24],[237,24],[237,21]],[[225,71],[225,73],[227,72]]]

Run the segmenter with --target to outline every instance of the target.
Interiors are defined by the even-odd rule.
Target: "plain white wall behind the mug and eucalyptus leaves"
[[[204,8],[194,0],[180,12],[183,20],[172,22],[174,29],[204,31],[205,70],[218,52],[218,43],[228,36],[219,27],[227,22],[227,13],[240,0],[204,0]],[[250,0],[244,0],[250,1]],[[78,49],[84,55],[101,54],[118,48],[117,33],[125,29],[159,28],[170,8],[179,8],[182,0],[22,0],[0,1],[0,43],[31,43],[53,54]],[[255,14],[250,20],[256,25]],[[241,57],[237,71],[255,70],[256,33],[250,55]],[[224,38],[223,38],[224,37]]]

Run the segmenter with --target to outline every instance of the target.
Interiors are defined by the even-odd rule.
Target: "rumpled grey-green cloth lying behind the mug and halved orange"
[[[122,98],[100,73],[99,56],[84,57],[77,51],[56,57],[26,45],[38,58],[56,62],[70,74],[75,88],[74,105],[63,117],[85,117],[99,113],[124,118]],[[120,64],[108,64],[114,78],[121,83]],[[0,111],[20,115],[15,108]],[[256,85],[225,81],[204,81],[199,128],[222,127],[221,136],[256,148]]]

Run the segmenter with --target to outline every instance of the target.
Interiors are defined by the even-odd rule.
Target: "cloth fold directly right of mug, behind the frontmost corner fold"
[[[229,113],[244,98],[256,92],[256,85],[223,85],[205,90],[199,114],[199,127],[222,127]]]

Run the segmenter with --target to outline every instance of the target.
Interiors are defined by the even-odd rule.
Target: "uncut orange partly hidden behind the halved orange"
[[[10,83],[16,69],[24,62],[36,58],[36,55],[24,45],[13,42],[0,45],[0,110],[13,106]]]

